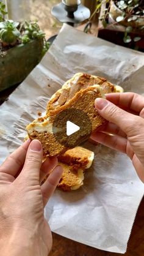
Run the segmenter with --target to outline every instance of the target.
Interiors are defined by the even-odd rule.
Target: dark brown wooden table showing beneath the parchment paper
[[[17,86],[0,92],[0,105]],[[112,252],[98,250],[85,244],[52,233],[53,246],[49,256],[120,256]],[[144,256],[144,198],[140,203],[134,226],[128,243],[128,250],[124,256]]]

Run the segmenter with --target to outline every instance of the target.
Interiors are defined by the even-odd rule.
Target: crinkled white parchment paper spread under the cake
[[[26,125],[45,111],[49,97],[76,72],[106,77],[143,94],[144,55],[64,25],[41,63],[0,107],[0,162],[23,141]],[[144,187],[131,160],[85,143],[95,160],[84,186],[56,190],[45,208],[52,231],[89,246],[124,253]]]

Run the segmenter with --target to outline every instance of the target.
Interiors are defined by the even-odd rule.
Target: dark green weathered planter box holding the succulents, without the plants
[[[0,91],[24,80],[42,58],[43,39],[10,48],[0,56]]]

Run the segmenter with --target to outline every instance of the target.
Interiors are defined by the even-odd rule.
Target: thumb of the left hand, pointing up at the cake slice
[[[32,140],[26,154],[23,170],[20,176],[36,181],[39,184],[40,167],[43,160],[43,149],[39,140]]]

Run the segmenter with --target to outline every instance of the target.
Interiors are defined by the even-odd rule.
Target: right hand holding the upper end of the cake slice
[[[92,134],[95,140],[126,153],[144,182],[144,97],[133,92],[106,94],[95,100],[106,126]]]

